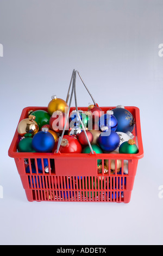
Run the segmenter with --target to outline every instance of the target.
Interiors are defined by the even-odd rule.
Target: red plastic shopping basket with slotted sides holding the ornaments
[[[115,107],[101,107],[106,113]],[[17,145],[20,141],[17,129],[12,139],[9,156],[16,163],[18,174],[30,202],[57,201],[57,202],[117,202],[129,203],[133,190],[138,160],[143,157],[141,137],[140,111],[137,107],[125,107],[135,120],[133,130],[136,141],[137,154],[61,154],[52,153],[18,153]],[[20,121],[28,117],[33,109],[47,111],[47,107],[26,107],[23,109]],[[71,107],[70,112],[76,109]],[[79,107],[87,111],[87,107]],[[39,173],[37,159],[48,159],[49,172]],[[102,160],[99,172],[98,160]],[[105,172],[104,161],[108,160],[109,170]],[[110,169],[111,160],[115,160],[115,172]],[[122,160],[121,172],[117,172],[117,160]],[[128,164],[128,173],[124,174],[124,163]],[[35,164],[36,173],[32,173],[32,164]],[[29,173],[26,167],[29,166]],[[44,169],[44,168],[42,168]]]

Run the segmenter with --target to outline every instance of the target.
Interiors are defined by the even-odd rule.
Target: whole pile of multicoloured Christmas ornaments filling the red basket
[[[18,152],[55,153],[59,137],[65,127],[59,151],[60,153],[89,154],[91,149],[96,154],[136,154],[138,149],[132,134],[135,121],[133,115],[119,105],[104,113],[97,105],[90,105],[87,111],[73,110],[67,119],[68,105],[66,101],[52,96],[47,111],[42,109],[29,111],[28,118],[20,121],[17,127],[21,136],[18,143]],[[85,127],[83,130],[82,123]],[[65,124],[66,123],[66,124]],[[101,160],[98,160],[99,170]],[[48,165],[48,164],[46,164]],[[121,167],[117,162],[117,169]],[[108,170],[108,161],[105,161],[104,170]],[[115,169],[115,161],[111,162],[111,170]]]

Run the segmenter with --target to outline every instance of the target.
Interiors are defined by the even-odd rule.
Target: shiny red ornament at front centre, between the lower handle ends
[[[54,145],[54,151],[57,150],[59,138],[55,142]],[[64,135],[62,138],[60,148],[60,153],[82,153],[82,145],[78,141],[77,138],[71,136],[71,135]]]

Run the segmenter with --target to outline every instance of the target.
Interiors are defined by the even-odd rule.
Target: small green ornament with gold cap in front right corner
[[[120,154],[136,154],[138,152],[137,146],[134,139],[129,139],[129,141],[123,142],[120,145]]]

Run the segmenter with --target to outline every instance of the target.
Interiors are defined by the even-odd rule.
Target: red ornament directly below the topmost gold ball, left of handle
[[[49,120],[49,125],[51,127],[51,130],[57,132],[57,133],[62,133],[64,130],[64,125],[66,122],[66,114],[62,111],[55,111],[53,112],[50,120]],[[69,123],[67,120],[67,124],[65,127],[65,131],[69,130]]]

